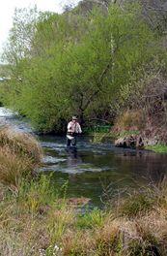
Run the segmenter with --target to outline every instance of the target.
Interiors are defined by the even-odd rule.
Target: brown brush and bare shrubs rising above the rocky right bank
[[[143,80],[133,82],[113,131],[124,141],[142,145],[167,144],[167,85],[163,72],[145,71]],[[127,94],[128,94],[127,93]],[[124,111],[123,111],[124,110]],[[125,111],[126,110],[126,111]],[[137,131],[137,136],[136,136]]]

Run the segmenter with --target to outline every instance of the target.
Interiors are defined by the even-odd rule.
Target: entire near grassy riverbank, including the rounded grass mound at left
[[[32,137],[19,136],[18,147],[18,139],[9,140],[7,130],[5,134],[0,138],[8,140],[0,140],[1,150],[8,146],[19,159],[23,158],[21,162],[13,161],[13,166],[9,165],[11,159],[5,161],[6,171],[13,170],[15,179],[8,178],[7,182],[4,175],[0,176],[2,255],[166,255],[166,180],[157,187],[127,191],[124,200],[119,196],[108,198],[104,209],[90,210],[86,207],[88,200],[68,199],[67,183],[55,190],[52,176],[17,173],[18,162],[27,170],[24,157],[34,162],[32,148],[38,152],[41,149]],[[31,151],[27,153],[25,144],[30,141]]]

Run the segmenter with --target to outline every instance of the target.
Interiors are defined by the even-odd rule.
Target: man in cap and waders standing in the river
[[[68,124],[68,133],[67,133],[67,146],[70,148],[70,145],[76,146],[76,136],[81,134],[82,130],[80,124],[77,122],[77,117],[72,116],[71,121]]]

